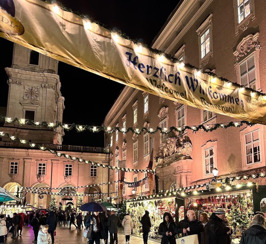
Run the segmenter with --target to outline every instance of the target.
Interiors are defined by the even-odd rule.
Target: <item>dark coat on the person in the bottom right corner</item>
[[[265,244],[266,230],[260,225],[252,225],[244,231],[240,244]]]

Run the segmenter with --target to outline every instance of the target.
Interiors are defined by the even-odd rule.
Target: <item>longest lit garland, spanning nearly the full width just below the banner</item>
[[[147,127],[142,127],[142,128],[133,128],[133,127],[104,127],[104,126],[88,126],[88,125],[75,125],[74,123],[72,124],[62,124],[60,122],[52,123],[52,122],[39,122],[39,121],[34,121],[34,120],[27,120],[27,119],[18,119],[18,118],[10,118],[10,117],[5,117],[0,115],[0,121],[5,121],[6,123],[14,123],[18,122],[20,125],[34,125],[36,127],[48,127],[48,128],[53,128],[56,129],[57,127],[61,127],[64,130],[72,130],[76,129],[77,132],[81,131],[92,131],[92,132],[100,132],[104,131],[109,134],[113,134],[114,131],[118,131],[120,133],[136,133],[138,135],[142,134],[143,132],[149,133],[149,134],[155,134],[158,131],[162,134],[168,134],[173,131],[175,132],[180,132],[184,133],[185,130],[192,130],[192,131],[198,131],[198,130],[204,130],[206,132],[216,130],[218,128],[223,128],[226,129],[228,127],[240,127],[244,124],[248,126],[253,126],[255,123],[248,122],[248,121],[237,121],[237,122],[226,122],[226,123],[215,123],[215,124],[209,124],[209,125],[193,125],[193,126],[183,126],[183,127],[176,127],[176,126],[171,126],[171,127],[159,127],[157,126],[156,128],[147,128]]]

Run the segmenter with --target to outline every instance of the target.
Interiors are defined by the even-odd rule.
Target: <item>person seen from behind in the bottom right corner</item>
[[[265,244],[266,227],[265,217],[256,214],[252,219],[252,226],[246,229],[241,237],[240,244]]]

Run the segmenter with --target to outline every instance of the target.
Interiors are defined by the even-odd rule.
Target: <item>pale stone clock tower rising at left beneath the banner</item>
[[[64,97],[57,75],[58,60],[14,44],[11,68],[6,68],[9,77],[7,117],[61,122]],[[18,123],[5,123],[3,131],[35,143],[62,144],[64,131]]]

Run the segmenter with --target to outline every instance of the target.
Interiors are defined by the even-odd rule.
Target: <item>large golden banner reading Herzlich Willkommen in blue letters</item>
[[[1,0],[0,6],[3,38],[144,92],[266,125],[265,94],[172,63],[54,4]]]

